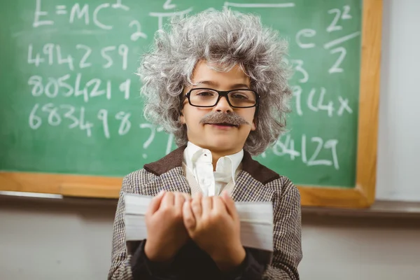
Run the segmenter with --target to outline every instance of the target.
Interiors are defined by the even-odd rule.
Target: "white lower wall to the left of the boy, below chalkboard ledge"
[[[3,202],[0,279],[106,279],[114,210]]]

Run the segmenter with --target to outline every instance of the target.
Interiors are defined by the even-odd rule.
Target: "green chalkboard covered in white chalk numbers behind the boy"
[[[139,58],[170,17],[228,6],[289,41],[289,132],[256,159],[353,188],[361,0],[15,0],[0,11],[0,170],[123,176],[176,146],[144,120]],[[286,3],[288,2],[288,3]]]

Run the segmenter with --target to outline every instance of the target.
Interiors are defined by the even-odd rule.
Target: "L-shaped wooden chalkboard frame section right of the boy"
[[[381,62],[382,0],[363,0],[356,186],[299,186],[302,205],[365,208],[374,202]]]

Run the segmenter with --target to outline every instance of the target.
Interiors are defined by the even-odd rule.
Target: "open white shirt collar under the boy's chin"
[[[197,162],[197,159],[200,158],[202,155],[207,155],[209,162],[212,161],[211,151],[205,148],[201,148],[188,141],[186,150],[184,151],[184,162],[186,162],[186,166],[191,171],[194,171],[195,162]],[[229,172],[230,176],[232,177],[233,183],[235,183],[235,174],[243,158],[243,149],[241,149],[241,151],[239,151],[238,153],[234,153],[232,155],[225,155],[224,157],[219,158],[218,162],[216,163],[216,172],[223,172],[225,174]],[[225,167],[227,167],[228,165],[230,165],[230,168],[226,169]]]

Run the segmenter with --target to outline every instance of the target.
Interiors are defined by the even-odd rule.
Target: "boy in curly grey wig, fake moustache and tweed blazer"
[[[299,279],[299,192],[251,158],[285,126],[286,44],[224,10],[174,22],[155,45],[139,69],[144,113],[179,148],[125,176],[109,279]],[[125,242],[124,193],[154,196],[147,240]],[[235,201],[272,202],[271,259],[241,245]]]

